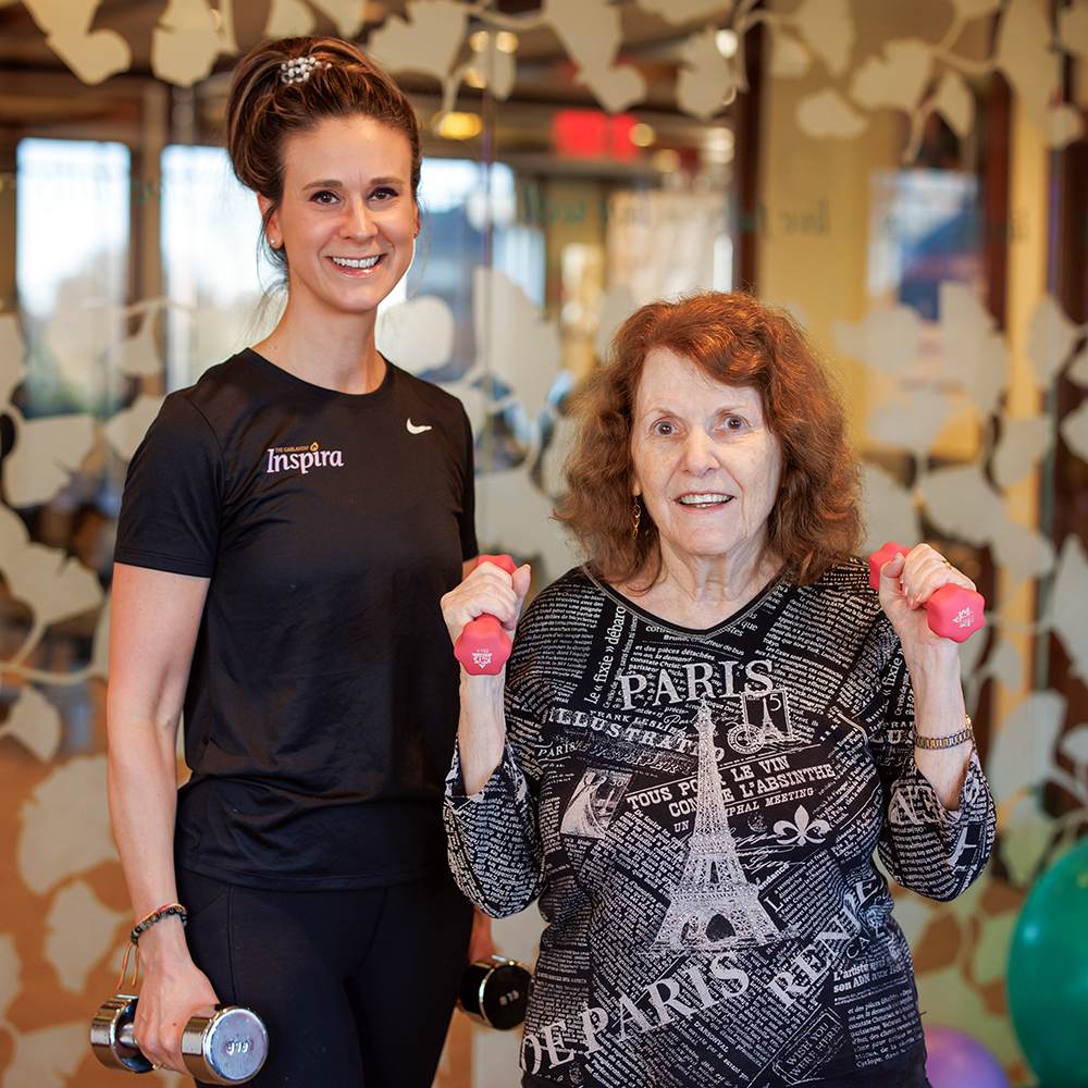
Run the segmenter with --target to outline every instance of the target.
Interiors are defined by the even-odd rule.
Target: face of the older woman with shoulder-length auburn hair
[[[653,348],[635,397],[631,457],[632,493],[658,528],[666,568],[757,560],[782,456],[755,390],[724,385]]]

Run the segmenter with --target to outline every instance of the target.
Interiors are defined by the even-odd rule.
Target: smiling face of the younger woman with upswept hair
[[[269,200],[258,201],[263,214]],[[283,200],[267,233],[287,254],[294,312],[376,310],[408,271],[419,233],[408,138],[364,116],[289,137]]]

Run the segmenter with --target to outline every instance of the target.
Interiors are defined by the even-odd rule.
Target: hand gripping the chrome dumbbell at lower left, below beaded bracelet
[[[219,998],[208,976],[193,963],[185,938],[169,931],[174,927],[181,930],[181,923],[163,919],[140,935],[145,969],[133,1037],[152,1065],[191,1077],[182,1058],[182,1034],[191,1017],[210,1016]]]

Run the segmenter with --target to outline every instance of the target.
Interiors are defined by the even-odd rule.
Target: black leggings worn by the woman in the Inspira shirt
[[[269,1033],[254,1088],[431,1088],[472,907],[448,874],[282,892],[177,873],[197,966]]]

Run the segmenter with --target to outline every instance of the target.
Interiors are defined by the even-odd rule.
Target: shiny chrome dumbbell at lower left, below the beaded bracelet
[[[136,998],[110,998],[90,1022],[90,1047],[108,1068],[149,1073],[153,1066],[133,1038]],[[194,1016],[182,1033],[182,1058],[196,1077],[214,1085],[250,1080],[264,1064],[268,1031],[255,1012],[232,1005]]]

